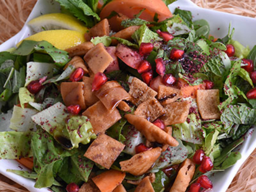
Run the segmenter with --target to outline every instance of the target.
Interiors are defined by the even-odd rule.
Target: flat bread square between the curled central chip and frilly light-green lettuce
[[[117,109],[110,112],[101,101],[90,106],[82,115],[89,118],[95,134],[104,133],[109,127],[121,119]]]

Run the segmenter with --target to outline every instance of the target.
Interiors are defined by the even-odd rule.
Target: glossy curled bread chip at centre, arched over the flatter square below
[[[105,105],[113,111],[122,100],[129,100],[131,96],[120,86],[117,81],[108,81],[95,94]]]

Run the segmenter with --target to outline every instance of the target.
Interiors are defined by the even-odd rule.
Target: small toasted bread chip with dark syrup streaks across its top
[[[179,98],[181,98],[179,89],[162,85],[158,87],[157,99],[161,102],[161,104],[172,103]]]

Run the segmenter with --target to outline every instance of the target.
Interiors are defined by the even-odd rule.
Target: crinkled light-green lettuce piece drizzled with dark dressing
[[[96,139],[93,127],[86,116],[71,117],[66,127],[74,148],[78,148],[79,143],[87,144],[91,139]]]

